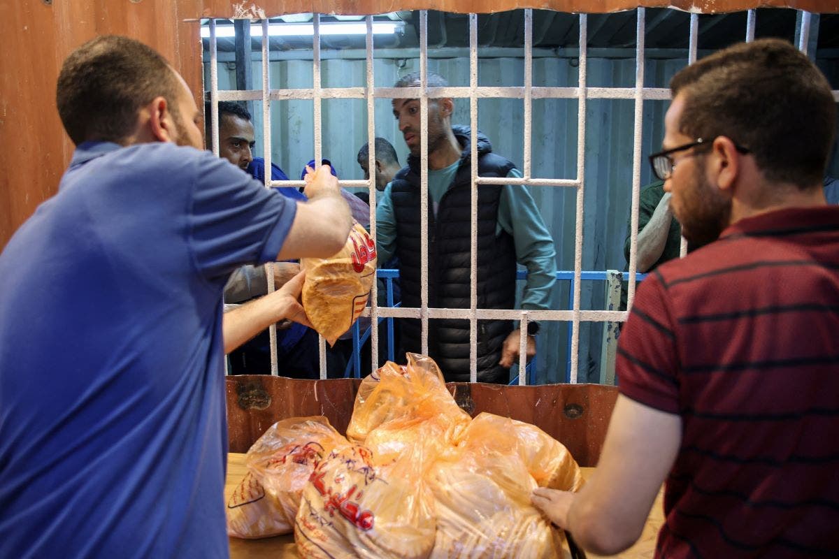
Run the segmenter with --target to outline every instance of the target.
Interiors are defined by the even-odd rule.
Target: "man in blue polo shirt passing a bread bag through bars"
[[[76,153],[0,255],[0,556],[226,557],[223,342],[251,325],[222,288],[335,253],[347,204],[328,169],[298,203],[202,150],[132,39],[70,54],[57,101]]]

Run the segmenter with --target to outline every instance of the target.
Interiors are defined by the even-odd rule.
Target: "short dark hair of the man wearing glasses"
[[[825,76],[791,44],[760,39],[722,49],[681,70],[670,89],[685,96],[680,132],[731,138],[770,181],[821,184],[836,102]]]

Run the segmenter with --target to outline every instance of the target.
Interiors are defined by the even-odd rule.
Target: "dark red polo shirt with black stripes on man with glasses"
[[[683,422],[657,557],[839,556],[839,208],[740,220],[659,267],[618,377]]]

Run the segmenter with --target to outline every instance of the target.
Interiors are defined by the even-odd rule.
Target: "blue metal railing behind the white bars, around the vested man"
[[[393,280],[399,279],[399,270],[392,270],[392,269],[379,269],[377,270],[377,277],[378,279],[382,279],[385,282],[385,290],[386,290],[386,300],[388,307],[399,307],[401,303],[393,303]],[[624,281],[628,281],[629,279],[629,272],[622,272],[622,277]],[[647,277],[646,274],[638,273],[635,275],[636,280],[640,282]],[[517,281],[524,281],[527,279],[527,271],[519,270],[516,272],[516,280]],[[581,272],[580,280],[582,282],[586,281],[601,281],[605,282],[609,279],[608,272]],[[556,272],[556,280],[560,282],[569,282],[569,290],[568,290],[568,309],[574,308],[574,271],[560,271]],[[393,318],[378,318],[378,324],[382,323],[382,321],[387,321],[387,328],[388,328],[388,360],[393,361],[393,352],[395,348],[393,347]],[[349,363],[347,363],[347,369],[344,371],[344,377],[348,378],[353,376],[355,378],[361,378],[361,369],[362,369],[362,361],[361,361],[361,348],[362,346],[367,343],[367,339],[370,337],[370,328],[368,327],[365,329],[364,333],[361,333],[361,326],[359,321],[357,320],[356,323],[352,325],[352,359]],[[567,334],[567,355],[568,359],[566,361],[566,369],[565,369],[565,381],[571,381],[571,328],[568,329]],[[525,374],[528,375],[528,384],[534,384],[534,375],[536,374],[536,357],[530,360],[529,364],[527,365],[527,370]],[[510,381],[510,384],[518,384],[519,382],[519,375],[516,375],[513,380]]]

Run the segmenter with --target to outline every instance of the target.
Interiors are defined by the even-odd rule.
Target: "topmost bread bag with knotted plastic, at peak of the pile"
[[[453,442],[469,424],[446,388],[440,368],[430,357],[407,354],[408,365],[388,361],[358,387],[347,438],[367,443],[367,435],[393,419],[429,419],[446,426],[446,441]]]

